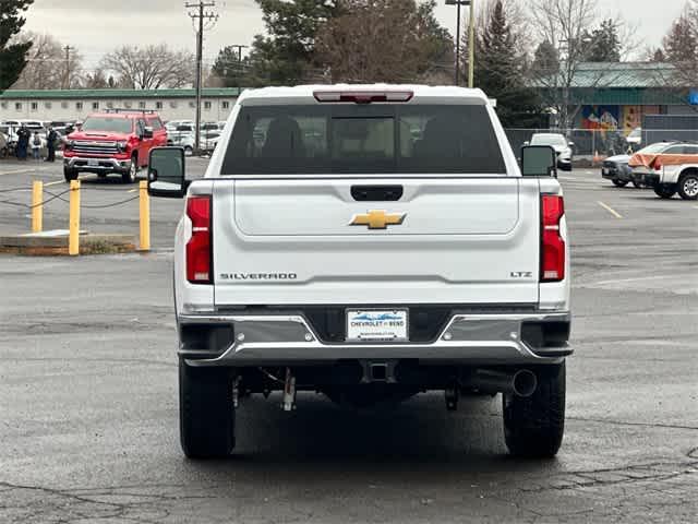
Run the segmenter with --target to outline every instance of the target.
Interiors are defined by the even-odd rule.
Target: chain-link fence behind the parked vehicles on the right
[[[578,159],[604,158],[613,155],[633,154],[640,148],[663,141],[698,142],[696,130],[645,130],[641,133],[627,131],[602,131],[589,129],[570,129],[562,132],[558,129],[506,129],[506,134],[514,152],[530,142],[537,133],[564,134],[573,145],[573,153]]]

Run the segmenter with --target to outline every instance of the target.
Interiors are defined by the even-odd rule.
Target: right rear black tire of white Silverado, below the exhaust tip
[[[555,456],[565,432],[565,364],[535,370],[531,396],[503,395],[504,440],[518,456]]]

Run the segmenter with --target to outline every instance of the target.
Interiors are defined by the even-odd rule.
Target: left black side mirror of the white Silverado
[[[183,147],[154,147],[148,160],[148,194],[181,199],[186,194]]]

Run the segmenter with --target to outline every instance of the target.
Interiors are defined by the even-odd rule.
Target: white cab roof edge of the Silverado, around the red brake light
[[[260,98],[313,98],[315,92],[412,92],[418,98],[469,98],[476,103],[488,103],[482,90],[456,87],[454,85],[420,85],[420,84],[309,84],[292,87],[262,87],[245,90],[239,102]]]

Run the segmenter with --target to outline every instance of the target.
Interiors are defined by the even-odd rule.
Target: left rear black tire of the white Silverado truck
[[[179,421],[182,451],[190,458],[228,456],[236,445],[232,381],[225,368],[179,361]]]

